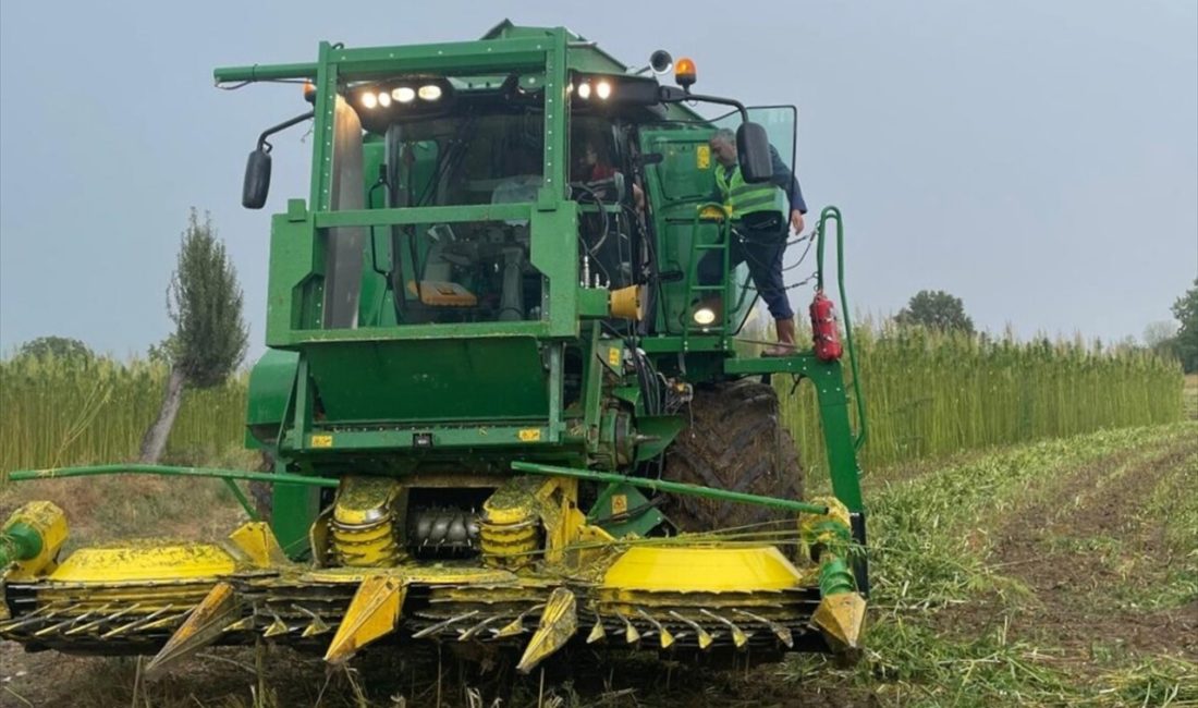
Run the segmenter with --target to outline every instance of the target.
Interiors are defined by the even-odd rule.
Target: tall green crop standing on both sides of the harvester
[[[855,332],[870,422],[867,467],[1182,417],[1172,361],[1082,341],[1016,343],[877,326]],[[162,401],[144,361],[0,361],[0,470],[129,460]],[[775,377],[804,467],[824,464],[813,393]],[[244,437],[246,377],[188,391],[168,446],[211,456]]]

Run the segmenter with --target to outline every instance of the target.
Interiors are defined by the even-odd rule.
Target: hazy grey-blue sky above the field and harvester
[[[241,207],[242,170],[305,104],[216,90],[212,68],[314,61],[321,40],[473,40],[504,17],[629,65],[665,48],[695,60],[696,91],[798,105],[799,178],[812,211],[845,213],[854,311],[946,290],[981,328],[1111,341],[1169,320],[1198,277],[1193,0],[4,2],[0,352],[53,334],[144,355],[170,331],[194,206],[260,353],[270,214],[307,196],[310,140],[272,139],[262,211]]]

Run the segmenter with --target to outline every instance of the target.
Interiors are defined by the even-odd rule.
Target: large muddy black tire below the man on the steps
[[[791,434],[779,418],[778,393],[744,379],[695,388],[691,423],[666,452],[664,477],[749,494],[803,498],[803,472]],[[679,531],[702,532],[793,522],[794,514],[757,504],[671,495],[666,515]],[[769,531],[769,527],[761,528]]]

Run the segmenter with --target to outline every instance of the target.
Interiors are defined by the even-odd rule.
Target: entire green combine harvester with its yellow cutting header
[[[476,42],[322,43],[216,81],[303,84],[311,104],[261,134],[243,193],[265,204],[272,134],[311,131],[310,193],[272,219],[249,381],[247,442],[273,471],[11,472],[217,477],[252,521],[220,544],[60,557],[62,512],[26,504],[0,530],[0,636],[152,655],[150,673],[264,637],[332,665],[438,642],[524,672],[570,645],[857,652],[861,397],[854,428],[835,355],[757,356],[744,265],[696,274],[710,253],[731,265],[736,238],[709,139],[736,131],[745,181],[766,181],[770,144],[793,161],[793,107],[694,93],[694,62],[665,52],[636,71],[508,22]],[[840,252],[829,207],[819,297],[831,229]],[[834,496],[801,500],[772,375],[815,385]],[[235,480],[266,485],[266,508]]]

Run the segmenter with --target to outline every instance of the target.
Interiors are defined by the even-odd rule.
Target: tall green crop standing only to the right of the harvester
[[[866,467],[1184,416],[1180,367],[1144,350],[873,325],[854,337]],[[813,392],[789,379],[775,386],[804,468],[822,467]]]

